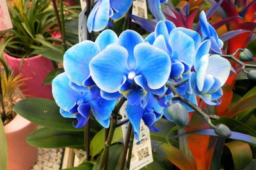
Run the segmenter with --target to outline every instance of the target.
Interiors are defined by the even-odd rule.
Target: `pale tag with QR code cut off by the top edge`
[[[148,19],[147,2],[146,0],[133,1],[132,4],[132,15]]]

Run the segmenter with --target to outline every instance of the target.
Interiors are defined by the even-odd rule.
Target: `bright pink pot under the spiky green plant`
[[[11,66],[15,74],[19,73],[21,58],[13,58],[4,53],[7,63]],[[26,97],[52,98],[51,85],[43,86],[45,77],[54,69],[52,61],[41,55],[32,58],[25,58],[20,73],[29,79],[20,89],[25,90],[23,93]]]

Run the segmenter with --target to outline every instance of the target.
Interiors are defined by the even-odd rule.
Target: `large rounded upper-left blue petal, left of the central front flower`
[[[94,42],[87,40],[68,49],[63,60],[63,67],[68,79],[78,86],[83,86],[82,82],[90,75],[89,62],[99,52],[99,47]]]

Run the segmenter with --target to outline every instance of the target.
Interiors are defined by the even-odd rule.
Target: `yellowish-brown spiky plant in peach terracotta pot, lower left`
[[[38,150],[26,143],[26,137],[36,129],[36,125],[17,115],[12,109],[13,105],[23,97],[19,88],[24,86],[26,78],[21,74],[15,76],[13,72],[5,71],[1,71],[0,76],[0,115],[7,141],[7,166],[8,169],[29,169],[37,160]]]

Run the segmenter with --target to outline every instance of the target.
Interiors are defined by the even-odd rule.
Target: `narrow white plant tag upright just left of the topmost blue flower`
[[[79,42],[83,42],[84,40],[87,40],[87,17],[85,15],[86,13],[86,6],[84,6],[84,9],[79,13],[78,16],[78,39]]]

